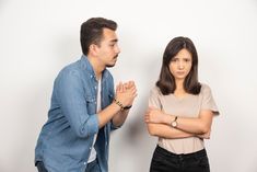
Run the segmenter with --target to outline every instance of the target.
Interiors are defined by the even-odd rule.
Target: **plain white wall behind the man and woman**
[[[113,134],[110,172],[147,172],[156,144],[142,122],[162,54],[175,36],[190,37],[200,81],[221,115],[206,142],[212,172],[257,171],[256,0],[0,0],[0,171],[35,172],[34,147],[46,121],[52,81],[80,58],[80,24],[118,22],[121,54],[115,81],[133,79],[139,95]]]

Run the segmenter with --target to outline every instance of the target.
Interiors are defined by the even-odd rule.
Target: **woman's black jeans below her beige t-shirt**
[[[156,147],[150,172],[210,172],[206,149],[188,154],[175,154]]]

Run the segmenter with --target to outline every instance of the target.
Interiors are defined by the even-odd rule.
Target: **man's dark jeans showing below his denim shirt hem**
[[[36,167],[37,167],[38,172],[47,172],[47,170],[42,161],[37,161]],[[101,172],[97,159],[87,163],[85,172]]]

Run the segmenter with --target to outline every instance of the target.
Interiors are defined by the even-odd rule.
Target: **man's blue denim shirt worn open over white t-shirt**
[[[101,107],[113,102],[114,80],[102,74]],[[39,134],[35,162],[43,161],[49,172],[84,172],[94,148],[102,172],[108,171],[109,122],[98,129],[96,116],[97,80],[86,56],[65,67],[55,80],[48,121]]]

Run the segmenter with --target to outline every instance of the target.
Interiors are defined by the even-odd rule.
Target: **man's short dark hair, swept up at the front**
[[[91,18],[82,23],[80,30],[80,43],[84,55],[87,55],[91,44],[100,45],[104,28],[116,31],[117,23],[104,18]]]

